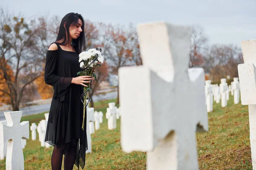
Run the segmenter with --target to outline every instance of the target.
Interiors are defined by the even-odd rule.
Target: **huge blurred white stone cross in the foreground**
[[[148,170],[196,170],[208,117],[204,69],[188,68],[191,29],[148,23],[138,35],[143,65],[119,68],[122,149],[146,151]]]

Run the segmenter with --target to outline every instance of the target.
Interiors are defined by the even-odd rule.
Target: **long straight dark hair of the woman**
[[[84,36],[84,19],[81,16],[81,14],[70,12],[66,14],[62,20],[61,25],[59,28],[58,36],[55,42],[58,42],[60,45],[67,45],[67,43],[70,40],[70,33],[69,29],[70,26],[75,26],[78,23],[78,20],[82,20],[82,32],[80,33],[80,36],[77,39],[72,40],[72,45],[76,49],[77,53],[81,53],[82,50],[85,50],[85,36]],[[65,24],[65,27],[64,27]],[[67,32],[67,37],[66,37]]]

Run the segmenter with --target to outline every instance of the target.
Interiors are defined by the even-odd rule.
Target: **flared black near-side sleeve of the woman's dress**
[[[56,75],[58,67],[58,50],[47,51],[44,69],[44,81],[54,88],[54,98],[63,97],[70,86],[72,77],[60,77]],[[63,101],[64,99],[61,99]]]

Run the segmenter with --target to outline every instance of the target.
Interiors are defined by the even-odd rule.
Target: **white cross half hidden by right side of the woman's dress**
[[[88,100],[86,100],[86,103]],[[89,122],[94,122],[94,108],[89,108],[87,105],[86,107],[87,110],[87,116],[86,116],[86,134],[87,134],[87,145],[88,145],[88,150],[85,153],[92,153],[92,138],[90,136],[90,128],[89,128]]]

